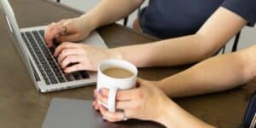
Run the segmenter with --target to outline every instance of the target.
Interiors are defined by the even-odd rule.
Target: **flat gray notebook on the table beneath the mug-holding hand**
[[[91,101],[54,98],[46,113],[43,128],[155,128],[164,127],[154,122],[129,119],[110,123],[91,107]]]

